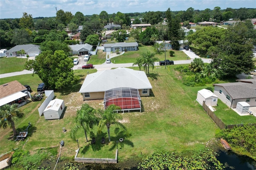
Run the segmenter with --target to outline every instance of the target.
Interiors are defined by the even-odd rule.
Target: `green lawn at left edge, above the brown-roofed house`
[[[0,74],[22,71],[28,58],[0,57]]]

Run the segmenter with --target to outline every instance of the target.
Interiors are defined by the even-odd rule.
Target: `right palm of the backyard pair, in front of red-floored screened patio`
[[[118,121],[122,121],[122,115],[116,112],[116,110],[119,110],[120,107],[116,105],[109,105],[107,109],[102,110],[99,109],[98,113],[100,113],[100,121],[98,124],[98,132],[102,132],[102,129],[105,127],[108,128],[108,140],[110,141],[110,125],[115,124],[118,127],[122,128],[123,132],[127,132],[126,127],[122,125],[122,123]]]

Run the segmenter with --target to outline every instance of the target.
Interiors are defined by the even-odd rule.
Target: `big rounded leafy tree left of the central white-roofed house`
[[[73,61],[63,50],[43,51],[35,60],[28,60],[25,64],[27,70],[33,73],[53,89],[62,89],[74,85],[79,77],[74,75]]]

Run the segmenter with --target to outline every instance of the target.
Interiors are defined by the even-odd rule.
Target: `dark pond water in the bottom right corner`
[[[240,156],[232,151],[219,151],[216,158],[226,168],[225,170],[256,170],[256,161],[248,156]]]

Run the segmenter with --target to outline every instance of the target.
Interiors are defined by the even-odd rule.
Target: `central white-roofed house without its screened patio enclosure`
[[[87,75],[79,93],[84,100],[104,99],[105,91],[121,87],[137,89],[140,96],[149,96],[152,89],[144,71],[119,67]]]

